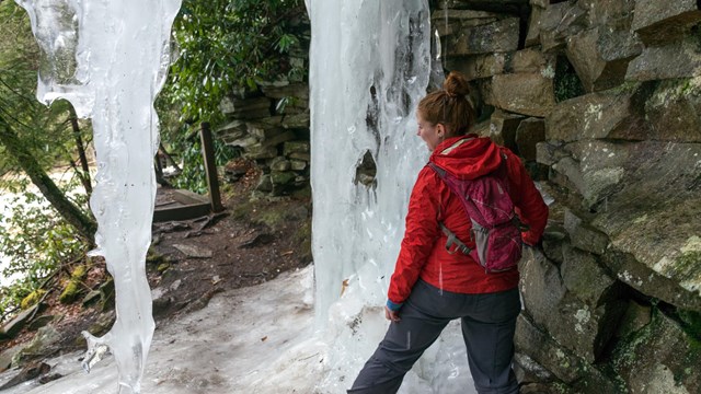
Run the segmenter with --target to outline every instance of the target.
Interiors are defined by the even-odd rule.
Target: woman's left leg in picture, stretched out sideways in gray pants
[[[348,393],[397,393],[402,380],[440,335],[450,317],[436,317],[430,311],[434,294],[416,286],[400,310],[401,322],[390,324],[384,339],[353,383]]]

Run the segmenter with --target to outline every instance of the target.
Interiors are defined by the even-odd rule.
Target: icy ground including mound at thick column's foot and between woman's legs
[[[345,393],[387,323],[381,309],[366,308],[361,325],[366,328],[358,331],[335,311],[338,327],[315,334],[312,280],[310,265],[260,286],[216,294],[207,308],[158,327],[141,393]],[[457,327],[451,328],[426,351],[400,393],[466,393],[466,387],[471,392],[467,366],[445,360],[450,352],[464,351],[460,345],[447,346],[459,336]],[[346,334],[349,331],[354,334]],[[360,347],[355,351],[360,358],[334,356],[343,355],[344,347]],[[48,361],[51,373],[64,375],[59,380],[44,385],[31,381],[1,393],[116,394],[114,358],[106,357],[87,374],[80,368],[81,357],[82,352],[70,354]],[[433,375],[433,382],[420,379],[422,371]],[[0,374],[0,385],[15,373]]]

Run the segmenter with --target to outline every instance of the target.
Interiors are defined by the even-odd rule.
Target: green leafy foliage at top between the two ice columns
[[[185,0],[173,31],[180,48],[163,100],[191,121],[220,120],[219,103],[235,91],[256,90],[257,81],[300,78],[308,27],[302,0]]]

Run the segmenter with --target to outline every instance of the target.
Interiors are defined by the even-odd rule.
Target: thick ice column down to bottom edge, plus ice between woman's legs
[[[428,158],[415,108],[432,70],[434,78],[441,70],[432,65],[425,0],[307,7],[315,324],[330,346],[319,387],[342,393],[387,329],[382,305],[409,196]],[[400,393],[470,392],[468,371],[459,326],[451,324]]]

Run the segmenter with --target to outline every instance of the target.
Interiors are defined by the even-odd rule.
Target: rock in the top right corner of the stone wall
[[[647,46],[658,46],[688,35],[701,22],[697,0],[636,0],[632,30]],[[670,65],[671,60],[668,61]]]

